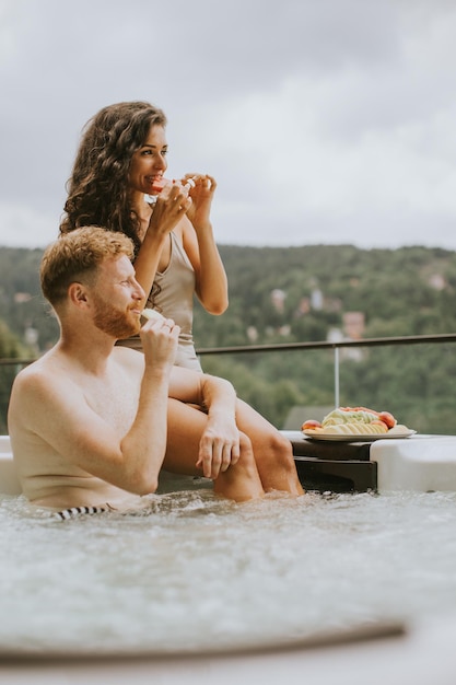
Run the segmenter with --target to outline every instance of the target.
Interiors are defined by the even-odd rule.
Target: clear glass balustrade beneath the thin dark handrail
[[[206,372],[279,429],[299,430],[335,406],[390,411],[420,433],[456,434],[456,335],[198,350]],[[31,360],[0,360],[0,434],[15,374]]]

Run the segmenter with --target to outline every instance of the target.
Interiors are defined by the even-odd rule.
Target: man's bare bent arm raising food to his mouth
[[[154,335],[144,336],[149,350]],[[137,495],[153,492],[166,450],[169,360],[177,335],[178,329],[174,336],[157,334],[154,363],[145,363],[143,373],[142,356],[135,357],[137,369],[129,372],[138,374],[140,398],[138,406],[129,407],[131,418],[124,429],[100,416],[77,382],[52,371],[52,362],[25,369],[11,394],[13,450],[14,445],[23,449],[27,439],[28,444],[38,442],[43,453],[45,443],[63,460],[119,488]],[[118,392],[122,392],[121,385]]]

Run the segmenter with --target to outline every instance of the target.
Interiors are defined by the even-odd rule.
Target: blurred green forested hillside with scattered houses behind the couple
[[[421,246],[220,245],[230,306],[211,316],[196,303],[198,349],[456,333],[456,253]],[[39,249],[0,249],[0,358],[35,358],[58,336],[39,291]],[[334,406],[334,351],[201,356],[239,397],[278,428],[297,429]],[[0,367],[0,433],[11,382]],[[456,345],[350,348],[340,353],[340,404],[395,414],[420,432],[456,433]],[[294,423],[290,417],[294,408]],[[297,408],[297,409],[296,409]]]

